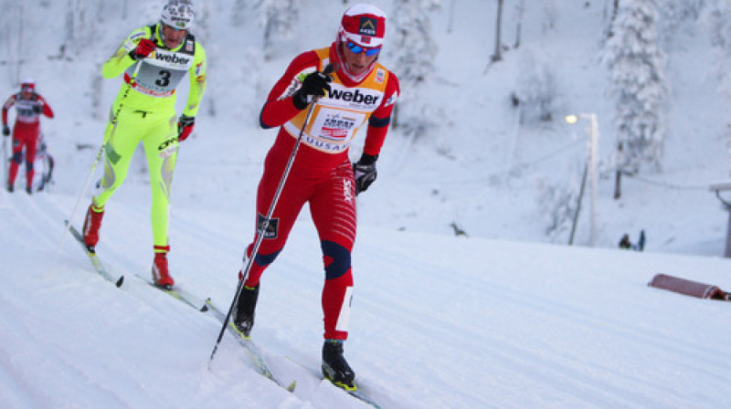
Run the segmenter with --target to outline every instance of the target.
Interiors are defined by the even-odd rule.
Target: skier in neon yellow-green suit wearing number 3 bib
[[[104,78],[124,73],[124,84],[111,107],[104,131],[104,176],[84,220],[84,243],[99,242],[104,205],[124,181],[132,154],[142,142],[152,189],[153,279],[160,287],[175,284],[167,267],[170,186],[178,143],[195,124],[198,104],[206,88],[206,52],[190,34],[195,14],[190,0],[169,0],[157,24],[132,31],[102,67]],[[190,91],[179,119],[175,89],[185,74]]]

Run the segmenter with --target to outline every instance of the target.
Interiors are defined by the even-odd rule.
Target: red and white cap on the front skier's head
[[[341,42],[352,41],[366,48],[381,47],[385,35],[386,13],[364,3],[348,7],[338,29]]]

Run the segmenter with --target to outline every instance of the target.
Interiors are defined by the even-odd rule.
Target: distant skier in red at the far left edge
[[[23,149],[26,150],[26,192],[33,192],[33,162],[36,160],[38,137],[40,136],[40,116],[53,118],[53,110],[48,102],[36,93],[36,84],[26,79],[20,84],[20,92],[13,94],[3,105],[3,137],[10,135],[7,126],[7,111],[16,107],[16,124],[13,127],[13,158],[8,169],[6,187],[13,192],[16,184],[17,168],[23,162]]]

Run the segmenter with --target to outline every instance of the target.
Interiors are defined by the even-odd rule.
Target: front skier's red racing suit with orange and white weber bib
[[[328,63],[339,63],[334,47],[335,43],[294,58],[261,110],[262,128],[281,128],[264,161],[257,192],[258,231],[309,110],[298,110],[292,93],[301,87],[307,74],[322,71]],[[360,82],[353,82],[340,69],[333,78],[332,92],[316,103],[304,128],[299,151],[245,285],[254,287],[259,283],[264,269],[284,247],[302,206],[308,203],[323,250],[324,338],[345,340],[353,291],[351,251],[356,226],[355,181],[348,149],[355,133],[365,125],[364,152],[380,152],[399,87],[396,75],[377,62]],[[253,243],[247,249],[247,257],[251,257],[252,249]]]

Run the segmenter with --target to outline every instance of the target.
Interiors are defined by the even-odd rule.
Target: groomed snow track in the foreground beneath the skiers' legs
[[[141,280],[114,288],[72,237],[53,263],[74,200],[0,193],[4,407],[369,407],[291,363],[318,368],[322,345],[321,257],[307,215],[262,281],[252,333],[274,371],[297,379],[288,393],[260,376],[228,335],[208,370],[215,318]],[[97,246],[110,271],[149,274],[147,206],[123,196],[110,202]],[[176,281],[228,307],[251,214],[175,207]],[[385,408],[726,402],[727,303],[646,286],[666,271],[724,287],[726,260],[367,227],[356,246],[345,351]]]

